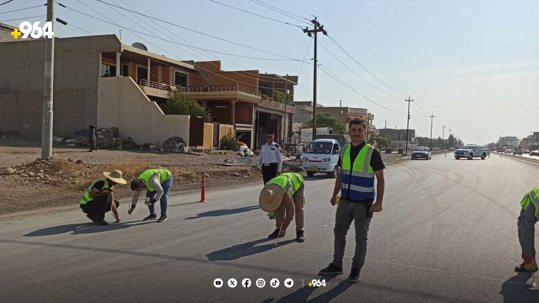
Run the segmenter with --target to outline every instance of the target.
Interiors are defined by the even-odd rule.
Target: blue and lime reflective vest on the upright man
[[[341,196],[346,197],[349,190],[351,200],[365,200],[375,197],[374,190],[374,170],[370,166],[370,160],[374,147],[365,144],[354,160],[354,166],[350,163],[350,149],[348,144],[341,151],[341,164],[343,174],[341,175]]]

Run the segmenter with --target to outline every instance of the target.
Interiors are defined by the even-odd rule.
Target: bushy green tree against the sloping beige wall
[[[204,122],[212,121],[208,108],[200,105],[195,98],[178,91],[168,94],[168,100],[161,105],[161,109],[166,115],[199,116]]]

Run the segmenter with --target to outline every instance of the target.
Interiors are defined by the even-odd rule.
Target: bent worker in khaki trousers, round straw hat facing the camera
[[[296,215],[296,240],[305,242],[303,231],[303,207],[305,206],[305,181],[303,176],[296,173],[284,173],[272,180],[260,192],[260,208],[275,213],[277,229],[269,238],[282,238],[286,229]]]

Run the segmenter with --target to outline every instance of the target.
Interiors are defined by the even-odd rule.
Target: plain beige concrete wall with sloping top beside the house
[[[165,115],[129,77],[99,78],[97,125],[116,126],[119,137],[162,146],[170,137],[182,137],[189,146],[186,115]]]

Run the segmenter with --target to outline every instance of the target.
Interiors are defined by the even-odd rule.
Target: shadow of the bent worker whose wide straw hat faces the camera
[[[271,242],[269,242],[271,241]],[[278,245],[275,245],[275,239],[264,238],[260,240],[255,240],[243,244],[234,245],[226,249],[214,251],[212,253],[206,254],[208,260],[210,261],[230,261],[236,260],[241,257],[252,256],[256,253],[261,253],[275,249],[279,246],[286,245],[289,243],[294,243],[296,240],[286,240],[279,242]],[[264,244],[265,242],[269,242]]]

